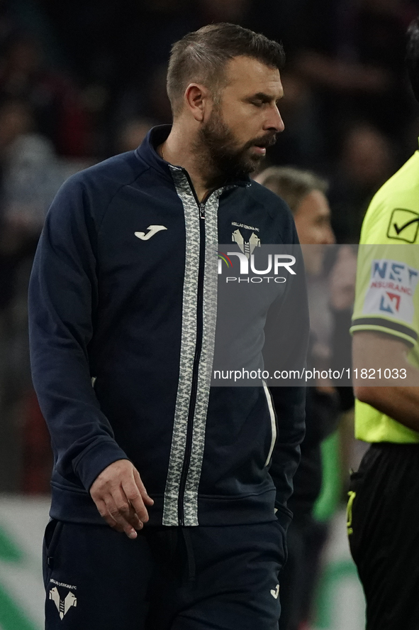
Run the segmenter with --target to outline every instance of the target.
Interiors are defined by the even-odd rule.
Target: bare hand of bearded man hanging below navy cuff
[[[137,538],[135,530],[148,521],[146,505],[154,504],[138,470],[128,460],[118,460],[102,470],[90,489],[99,514],[116,531]]]

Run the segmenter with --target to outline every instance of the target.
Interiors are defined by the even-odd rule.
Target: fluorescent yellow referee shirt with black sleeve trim
[[[374,196],[359,244],[351,332],[402,339],[410,346],[408,361],[419,368],[419,151]],[[419,433],[359,401],[355,435],[366,442],[419,442]]]

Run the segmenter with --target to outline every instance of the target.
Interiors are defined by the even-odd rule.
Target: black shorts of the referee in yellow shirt
[[[352,473],[348,533],[367,630],[419,629],[419,445],[373,444]]]

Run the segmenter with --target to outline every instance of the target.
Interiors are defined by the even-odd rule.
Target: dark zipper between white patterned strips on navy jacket
[[[205,205],[208,197],[211,195],[211,191],[205,201],[200,202],[194,185],[191,182],[189,173],[182,169],[188,180],[191,191],[194,194],[196,205],[199,210],[199,218],[205,219]],[[188,412],[188,425],[186,428],[186,445],[184,463],[181,471],[181,478],[179,484],[179,499],[178,499],[178,518],[179,525],[183,526],[185,521],[184,512],[184,494],[186,487],[186,479],[188,476],[189,464],[191,462],[192,454],[192,442],[194,437],[194,413],[196,406],[196,393],[198,391],[198,372],[199,372],[199,359],[201,357],[202,349],[202,337],[203,337],[203,273],[205,268],[205,223],[199,222],[199,271],[198,271],[198,290],[197,290],[197,307],[196,307],[196,345],[194,354],[194,366],[192,368],[192,384],[191,384],[191,398],[189,400],[189,412]]]

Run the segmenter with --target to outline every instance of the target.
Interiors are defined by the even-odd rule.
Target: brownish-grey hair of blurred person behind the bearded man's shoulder
[[[328,182],[311,170],[292,166],[271,166],[259,173],[257,181],[282,197],[293,214],[310,192],[320,190],[325,195],[329,188]]]

